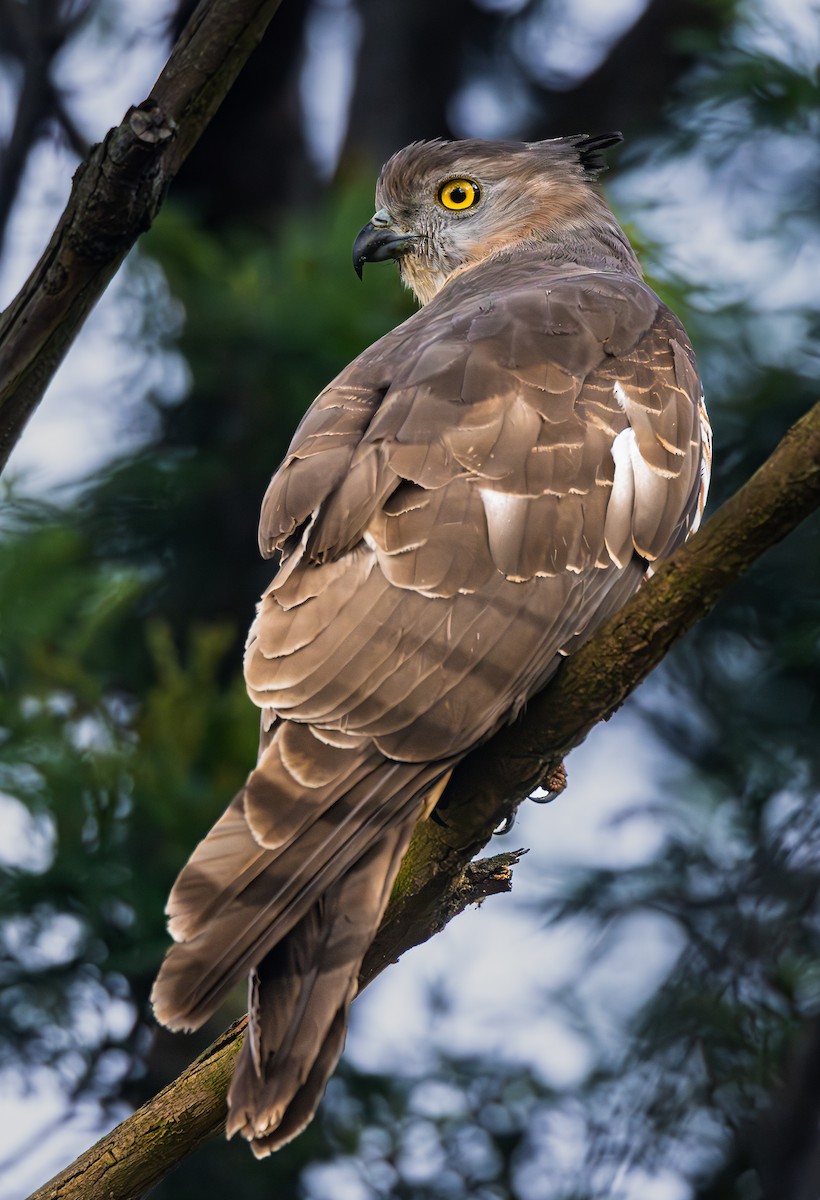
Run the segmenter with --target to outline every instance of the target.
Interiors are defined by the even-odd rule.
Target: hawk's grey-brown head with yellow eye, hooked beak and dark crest
[[[594,187],[620,133],[549,142],[414,142],[385,163],[376,212],[353,246],[365,263],[395,259],[426,304],[456,272],[517,247],[569,245],[615,217]],[[570,256],[571,257],[571,256]]]

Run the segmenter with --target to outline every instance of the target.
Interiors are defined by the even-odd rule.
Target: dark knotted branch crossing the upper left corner
[[[202,0],[150,96],[95,146],[29,280],[0,316],[0,469],[280,0]]]

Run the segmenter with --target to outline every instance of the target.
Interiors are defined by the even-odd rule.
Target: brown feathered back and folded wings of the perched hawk
[[[686,536],[701,479],[692,352],[648,288],[473,276],[323,392],[263,506],[286,560],[251,695],[405,761],[515,713]]]

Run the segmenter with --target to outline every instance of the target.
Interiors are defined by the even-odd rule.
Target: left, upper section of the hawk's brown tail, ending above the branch
[[[163,1025],[200,1026],[385,830],[415,820],[421,797],[442,774],[441,766],[390,762],[372,749],[334,752],[347,755],[348,769],[289,842],[259,845],[240,793],[193,852],[168,905],[178,942],[151,995]],[[268,764],[265,773],[271,806],[291,802],[297,786],[277,757],[277,772]],[[261,787],[255,803],[262,803]]]

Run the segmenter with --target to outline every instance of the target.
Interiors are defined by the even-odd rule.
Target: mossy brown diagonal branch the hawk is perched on
[[[499,820],[545,779],[559,786],[561,757],[615,712],[738,575],[818,506],[820,404],[704,529],[568,659],[526,716],[465,760],[445,794],[445,823],[424,822],[413,838],[365,960],[361,986],[467,905],[509,890],[517,853],[469,862]],[[221,1128],[243,1028],[238,1022],[228,1030],[155,1099],[30,1200],[136,1200],[158,1182]]]

